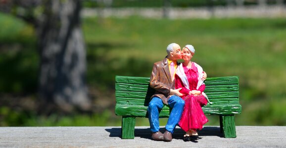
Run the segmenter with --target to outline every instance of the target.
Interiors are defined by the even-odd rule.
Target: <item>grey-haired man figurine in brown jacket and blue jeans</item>
[[[154,63],[153,70],[150,76],[150,87],[156,91],[151,97],[148,105],[148,115],[150,122],[150,130],[152,132],[152,139],[156,141],[172,141],[172,133],[176,125],[180,121],[182,112],[184,110],[185,101],[180,98],[182,94],[180,89],[174,89],[175,70],[178,67],[178,59],[182,59],[181,47],[176,43],[171,43],[167,46],[167,56],[159,62]],[[162,134],[159,131],[159,111],[164,104],[173,108],[167,125],[166,131]]]

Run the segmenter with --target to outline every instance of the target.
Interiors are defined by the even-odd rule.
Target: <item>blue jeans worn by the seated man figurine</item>
[[[174,132],[174,129],[178,122],[181,119],[182,112],[184,110],[185,101],[178,96],[171,96],[168,101],[168,105],[170,108],[173,108],[167,125],[166,130],[168,130],[170,133]],[[162,100],[158,97],[153,97],[152,100],[149,103],[148,106],[148,115],[149,115],[149,122],[150,122],[150,130],[151,132],[158,132],[159,127],[159,110],[161,110],[164,107],[164,104]]]

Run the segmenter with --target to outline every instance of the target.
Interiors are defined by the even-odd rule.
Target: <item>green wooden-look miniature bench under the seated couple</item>
[[[148,117],[147,107],[154,89],[149,77],[115,76],[115,114],[122,116],[122,139],[134,139],[135,118]],[[236,138],[235,114],[241,113],[238,77],[210,77],[205,80],[205,94],[212,104],[202,109],[205,114],[219,115],[225,138]],[[171,109],[164,106],[159,117],[168,117]]]

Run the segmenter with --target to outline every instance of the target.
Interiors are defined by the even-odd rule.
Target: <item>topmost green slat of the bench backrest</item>
[[[132,84],[148,84],[149,77],[137,76],[115,76],[115,82],[132,83]],[[224,76],[224,77],[208,77],[205,80],[206,85],[217,84],[238,84],[238,76]]]

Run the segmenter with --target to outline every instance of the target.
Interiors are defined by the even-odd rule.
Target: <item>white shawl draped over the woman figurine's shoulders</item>
[[[194,66],[197,68],[197,73],[198,73],[198,81],[197,81],[197,86],[196,86],[196,89],[198,89],[201,85],[203,85],[204,84],[204,82],[203,82],[203,80],[201,80],[201,78],[203,77],[203,70],[202,70],[202,68],[198,65],[198,64],[196,64],[196,63],[194,63],[194,62],[192,62],[193,64],[194,64]],[[186,76],[186,74],[185,74],[185,72],[184,72],[184,69],[183,69],[183,64],[180,64],[179,65],[179,67],[177,68],[177,70],[176,70],[176,74],[180,77],[180,79],[182,80],[182,82],[183,82],[183,84],[184,84],[184,86],[188,89],[188,90],[190,90],[190,86],[189,86],[189,82],[188,82],[188,78],[187,78],[187,76]],[[201,94],[207,99],[207,101],[209,102],[209,100],[208,100],[208,98],[207,98],[207,95],[204,93],[204,92],[201,92]],[[209,102],[210,104],[212,104],[211,102]]]

